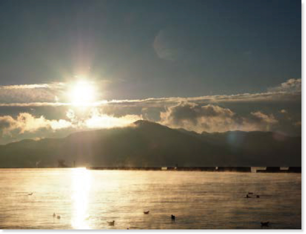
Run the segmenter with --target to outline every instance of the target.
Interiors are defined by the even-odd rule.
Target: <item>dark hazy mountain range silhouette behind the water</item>
[[[123,128],[73,133],[65,138],[0,145],[1,168],[68,166],[301,166],[301,137],[273,132],[198,134],[136,121]]]

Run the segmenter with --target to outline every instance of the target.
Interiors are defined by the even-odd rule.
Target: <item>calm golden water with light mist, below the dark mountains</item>
[[[301,174],[0,169],[0,187],[2,229],[301,228]]]

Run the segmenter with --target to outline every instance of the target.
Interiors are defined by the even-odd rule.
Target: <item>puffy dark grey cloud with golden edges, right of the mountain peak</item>
[[[241,116],[218,105],[182,102],[161,113],[161,124],[195,132],[271,131],[278,124],[273,114],[261,111]]]

